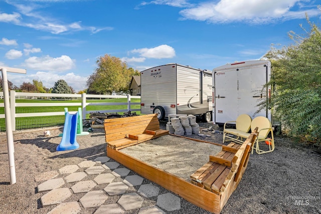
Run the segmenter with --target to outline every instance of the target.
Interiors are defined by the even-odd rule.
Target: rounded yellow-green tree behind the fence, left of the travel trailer
[[[115,92],[127,92],[128,82],[134,73],[139,71],[127,68],[127,63],[120,58],[105,54],[96,61],[97,68],[88,77],[88,92],[98,94],[111,94]]]

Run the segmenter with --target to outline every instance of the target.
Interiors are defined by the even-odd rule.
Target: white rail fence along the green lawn
[[[0,97],[3,98],[4,92],[0,92]],[[76,99],[79,102],[16,102],[17,99],[26,98],[43,98],[43,99]],[[93,98],[127,98],[127,102],[90,102]],[[16,107],[34,107],[34,106],[79,106],[82,107],[83,118],[86,118],[86,114],[96,112],[97,110],[86,110],[89,105],[127,105],[127,109],[115,109],[115,110],[99,110],[101,113],[108,112],[124,112],[124,111],[140,111],[139,109],[131,109],[131,105],[140,104],[140,102],[131,102],[131,98],[140,98],[140,96],[131,95],[98,95],[98,94],[65,94],[65,93],[29,93],[29,92],[16,92],[10,91],[10,111],[12,118],[12,128],[16,130],[16,118],[17,117],[34,117],[34,116],[55,116],[65,115],[64,109],[59,112],[29,112],[29,113],[16,113]],[[41,100],[41,99],[40,99]],[[4,107],[4,103],[0,103],[0,107]],[[77,111],[70,111],[70,113],[76,113]],[[0,114],[0,118],[5,118],[5,114]]]

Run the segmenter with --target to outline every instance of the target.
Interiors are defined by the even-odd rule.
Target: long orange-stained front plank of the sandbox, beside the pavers
[[[107,155],[141,176],[214,213],[220,213],[220,196],[176,175],[135,159],[120,150],[107,147]]]

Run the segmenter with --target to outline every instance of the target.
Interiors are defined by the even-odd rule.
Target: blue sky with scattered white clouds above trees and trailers
[[[86,88],[105,54],[140,71],[167,63],[212,70],[258,59],[287,33],[319,25],[320,0],[0,0],[0,66],[20,86],[65,79]]]

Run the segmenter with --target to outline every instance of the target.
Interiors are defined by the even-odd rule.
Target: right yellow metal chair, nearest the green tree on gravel
[[[262,153],[267,153],[271,152],[274,150],[274,137],[273,137],[273,129],[272,129],[272,124],[268,118],[265,116],[257,116],[255,117],[252,122],[251,122],[251,129],[254,130],[255,127],[258,127],[258,135],[256,138],[255,142],[255,147],[253,144],[252,147],[252,153],[253,150],[256,150],[256,153],[262,154]],[[271,137],[268,137],[267,135],[271,133]],[[248,134],[242,134],[239,133],[240,137],[247,137]],[[268,145],[269,149],[268,150],[262,150],[260,149],[260,142],[267,142],[266,144]]]

